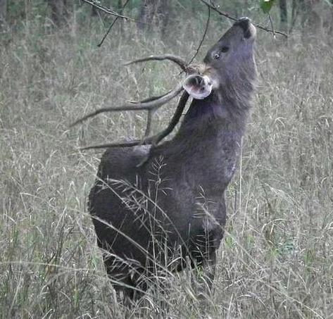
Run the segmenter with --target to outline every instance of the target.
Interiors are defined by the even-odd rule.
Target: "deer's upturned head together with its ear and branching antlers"
[[[244,86],[250,85],[256,76],[256,65],[253,58],[253,44],[256,37],[256,28],[251,24],[249,18],[241,18],[230,27],[225,35],[208,50],[203,63],[199,65],[188,65],[186,61],[178,56],[163,55],[149,56],[138,60],[126,63],[141,63],[146,61],[163,61],[168,60],[180,66],[182,71],[187,74],[184,82],[180,83],[172,91],[163,94],[162,96],[154,96],[144,101],[129,102],[119,107],[100,108],[99,110],[90,113],[83,118],[77,120],[71,126],[82,121],[92,118],[93,116],[106,111],[148,111],[146,135],[143,140],[132,142],[102,144],[96,146],[87,146],[83,149],[106,148],[112,146],[135,146],[138,144],[158,144],[166,137],[177,125],[182,111],[187,104],[189,96],[193,99],[205,99],[213,92],[223,99],[227,92],[238,94],[244,90],[237,90],[237,86],[244,89]],[[171,99],[175,98],[184,90],[180,102],[177,106],[175,114],[168,127],[158,135],[149,137],[151,115],[156,108],[166,104]],[[246,91],[246,90],[245,90]]]

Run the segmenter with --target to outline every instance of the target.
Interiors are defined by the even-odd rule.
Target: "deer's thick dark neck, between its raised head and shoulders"
[[[177,135],[156,149],[175,179],[202,187],[211,198],[224,192],[234,173],[249,105],[218,96],[193,100]]]

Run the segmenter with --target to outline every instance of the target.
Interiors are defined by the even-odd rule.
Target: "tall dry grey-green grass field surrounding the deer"
[[[333,318],[332,38],[297,28],[288,41],[258,32],[258,92],[206,309],[187,273],[131,313],[115,301],[87,215],[101,152],[78,146],[142,136],[145,114],[68,125],[172,88],[180,80],[173,65],[121,63],[160,53],[189,59],[205,17],[184,21],[163,42],[126,23],[101,48],[106,26],[80,23],[79,11],[56,32],[32,20],[0,35],[1,318]],[[214,18],[198,60],[228,25]],[[174,108],[158,113],[156,131]]]

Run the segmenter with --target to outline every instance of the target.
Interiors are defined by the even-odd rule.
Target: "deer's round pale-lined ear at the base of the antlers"
[[[211,94],[213,85],[206,75],[189,75],[184,80],[183,87],[194,99],[202,100]]]

